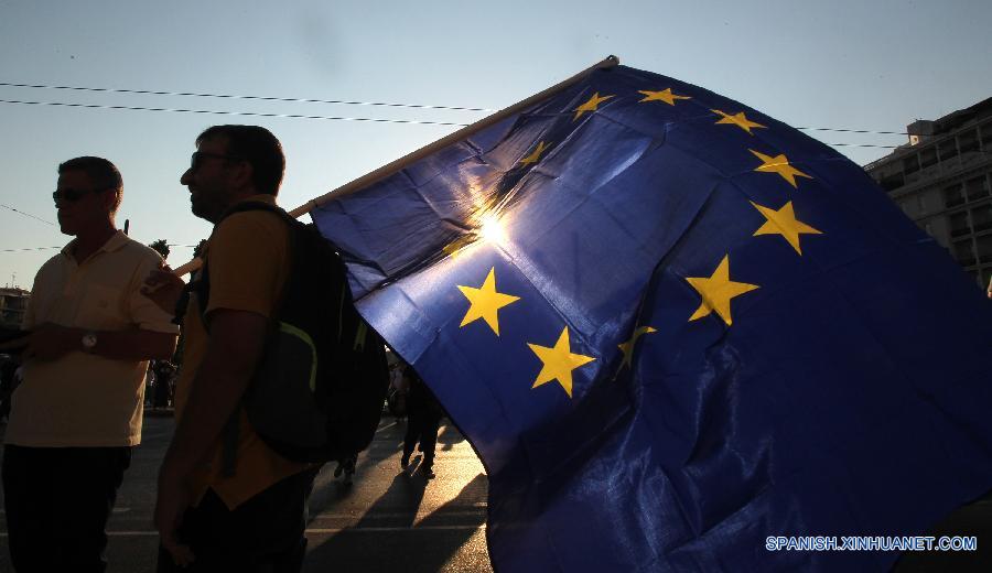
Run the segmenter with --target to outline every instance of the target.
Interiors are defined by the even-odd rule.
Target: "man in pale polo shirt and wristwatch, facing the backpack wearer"
[[[75,237],[34,279],[3,451],[11,561],[18,571],[104,571],[105,526],[141,441],[144,374],[177,328],[145,298],[161,263],[117,230],[123,183],[101,158],[58,166],[52,194]]]

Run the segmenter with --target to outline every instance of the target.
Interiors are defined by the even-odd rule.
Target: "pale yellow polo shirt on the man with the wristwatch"
[[[87,331],[177,334],[170,313],[141,294],[162,257],[116,235],[80,263],[73,242],[37,271],[23,328],[44,323]],[[71,352],[28,360],[13,392],[4,442],[32,447],[109,447],[141,442],[148,360],[115,360]]]

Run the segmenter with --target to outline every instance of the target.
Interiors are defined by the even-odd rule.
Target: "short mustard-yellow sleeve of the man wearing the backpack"
[[[217,309],[269,317],[281,286],[287,227],[277,215],[238,213],[224,219],[211,238],[207,272],[211,293],[205,314]]]

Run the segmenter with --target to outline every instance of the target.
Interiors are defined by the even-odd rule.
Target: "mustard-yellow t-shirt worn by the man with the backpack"
[[[270,195],[256,195],[247,201],[274,203]],[[207,314],[216,309],[227,309],[270,317],[289,274],[288,241],[285,223],[272,213],[236,213],[220,221],[204,253],[211,281]],[[209,339],[195,295],[191,296],[183,318],[183,364],[175,386],[177,420],[182,420]],[[203,380],[203,383],[209,383],[209,380]],[[234,509],[277,482],[310,467],[290,462],[267,446],[249,425],[244,409],[239,423],[235,475],[220,475],[222,434],[213,446],[211,462],[193,475],[193,495],[197,504],[207,488],[212,488],[228,508]]]

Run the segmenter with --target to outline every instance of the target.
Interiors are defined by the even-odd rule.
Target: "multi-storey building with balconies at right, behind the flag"
[[[865,171],[982,288],[992,278],[992,98],[906,131]]]

